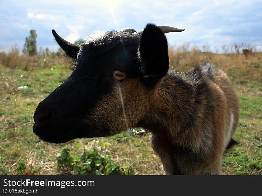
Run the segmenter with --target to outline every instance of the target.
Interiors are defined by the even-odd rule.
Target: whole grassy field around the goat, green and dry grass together
[[[174,71],[184,72],[209,61],[225,71],[240,100],[240,118],[233,139],[238,144],[224,153],[223,174],[262,174],[262,53],[244,56],[179,51],[170,47]],[[0,174],[74,174],[57,168],[57,154],[65,146],[71,154],[96,147],[101,154],[134,169],[136,175],[162,175],[160,159],[152,152],[150,133],[139,137],[123,132],[112,137],[75,139],[64,144],[40,141],[32,132],[38,103],[71,73],[65,61],[1,56],[0,61]],[[5,59],[5,61],[3,60]],[[14,60],[15,59],[15,60]],[[23,62],[23,63],[22,63]],[[11,66],[14,65],[14,66]]]

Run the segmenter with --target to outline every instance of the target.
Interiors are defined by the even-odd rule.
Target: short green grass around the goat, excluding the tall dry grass
[[[257,69],[261,66],[255,65]],[[66,66],[53,69],[13,70],[0,66],[0,174],[54,175],[57,154],[67,147],[72,156],[97,148],[113,161],[130,166],[135,174],[163,174],[160,159],[152,152],[150,134],[124,132],[112,137],[75,139],[64,144],[40,141],[32,132],[33,113],[69,74]],[[20,77],[23,75],[23,77]],[[240,118],[233,138],[239,143],[225,152],[223,172],[230,175],[262,174],[262,86],[244,76],[230,75],[240,100]],[[27,89],[19,89],[28,86]]]

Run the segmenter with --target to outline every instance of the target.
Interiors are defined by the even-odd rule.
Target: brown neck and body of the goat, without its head
[[[222,172],[238,115],[227,75],[205,63],[185,75],[168,72],[138,126],[152,132],[166,174],[214,175]]]

